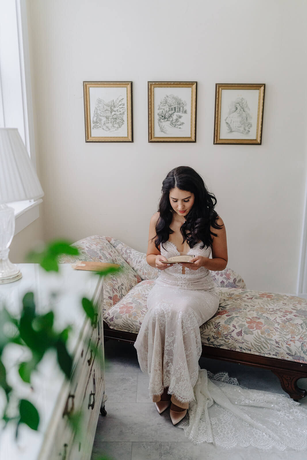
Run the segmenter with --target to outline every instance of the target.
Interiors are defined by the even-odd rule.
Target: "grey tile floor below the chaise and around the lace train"
[[[194,446],[184,430],[173,426],[169,411],[159,415],[148,395],[148,376],[139,368],[132,344],[108,340],[105,373],[107,415],[99,415],[92,460],[104,455],[112,460],[306,460],[307,452],[277,449],[264,452],[254,447],[224,450],[212,444]],[[240,385],[283,393],[278,378],[266,371],[240,364],[201,358],[200,367],[212,373],[227,371]],[[307,389],[307,379],[299,380]],[[306,404],[307,401],[303,402]]]

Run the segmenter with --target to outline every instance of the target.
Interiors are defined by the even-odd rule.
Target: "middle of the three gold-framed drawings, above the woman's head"
[[[196,81],[148,82],[148,142],[196,142]]]

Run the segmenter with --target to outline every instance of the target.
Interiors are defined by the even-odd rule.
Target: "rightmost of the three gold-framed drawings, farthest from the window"
[[[261,144],[265,84],[215,85],[214,144]]]

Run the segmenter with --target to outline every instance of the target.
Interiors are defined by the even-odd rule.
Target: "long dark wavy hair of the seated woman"
[[[155,246],[168,241],[169,235],[174,233],[170,229],[173,219],[173,208],[169,201],[169,191],[177,187],[180,190],[192,192],[195,196],[194,204],[190,212],[185,217],[185,222],[180,228],[183,237],[182,243],[187,241],[190,247],[194,247],[197,242],[202,241],[202,249],[211,246],[216,233],[210,231],[210,225],[214,229],[220,229],[223,225],[217,224],[219,218],[214,207],[217,203],[215,196],[209,193],[201,176],[189,166],[179,166],[172,169],[162,182],[162,196],[159,202],[159,219],[156,223]],[[154,239],[153,238],[153,239]]]

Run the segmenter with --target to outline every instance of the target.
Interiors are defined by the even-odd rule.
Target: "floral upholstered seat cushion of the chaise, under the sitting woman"
[[[110,328],[138,333],[154,281],[142,281],[104,315]],[[204,345],[307,362],[307,301],[300,297],[218,288],[220,306],[200,328]]]

